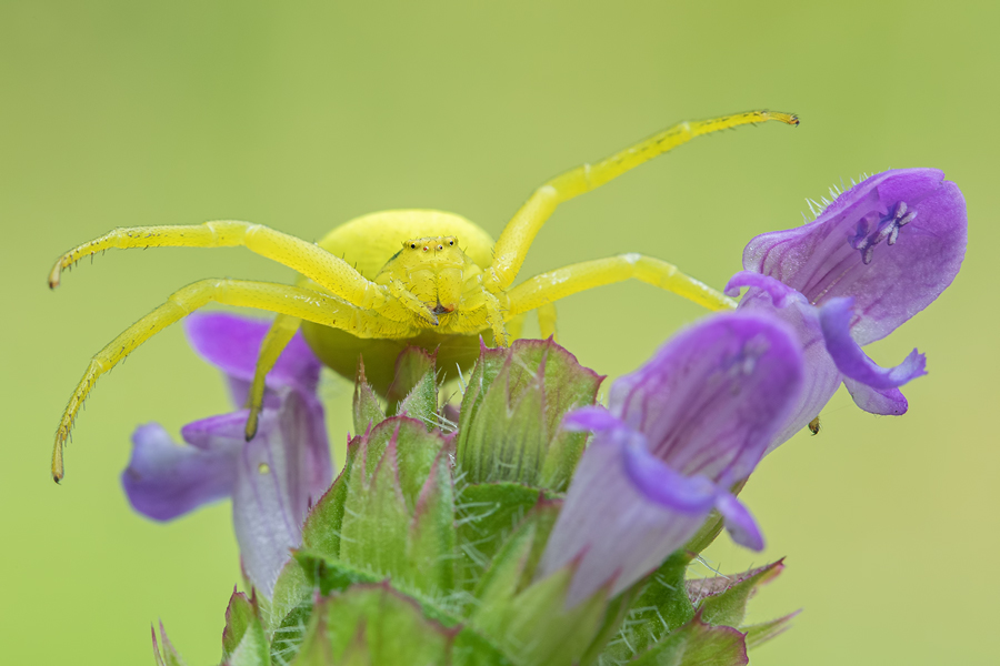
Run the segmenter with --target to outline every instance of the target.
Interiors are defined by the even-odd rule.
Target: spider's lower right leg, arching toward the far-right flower
[[[681,273],[673,264],[642,254],[619,254],[572,264],[522,282],[507,294],[510,299],[507,314],[512,316],[544,309],[570,294],[629,279],[671,291],[709,310],[736,307],[736,301]],[[554,309],[551,314],[540,310],[540,324],[543,319],[549,320],[554,327]]]

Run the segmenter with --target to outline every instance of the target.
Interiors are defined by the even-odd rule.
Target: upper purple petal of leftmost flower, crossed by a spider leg
[[[232,383],[233,402],[242,405],[253,380],[257,355],[270,324],[224,312],[188,316],[184,330],[198,354],[226,373]],[[321,363],[297,333],[268,373],[269,387],[291,386],[304,394],[316,393]],[[240,395],[242,394],[242,395]],[[273,405],[273,403],[272,403]]]

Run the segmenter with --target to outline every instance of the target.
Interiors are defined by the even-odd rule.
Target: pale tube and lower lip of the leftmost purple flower
[[[140,513],[167,521],[232,495],[237,542],[251,582],[270,597],[289,549],[302,538],[311,504],[330,486],[332,465],[323,411],[311,395],[284,390],[244,441],[247,411],[182,430],[177,446],[157,424],[140,427],[122,485]]]

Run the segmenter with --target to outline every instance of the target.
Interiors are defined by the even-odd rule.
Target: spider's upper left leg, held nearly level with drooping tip
[[[234,248],[242,245],[284,264],[351,303],[379,307],[388,291],[366,280],[349,263],[319,245],[262,224],[220,220],[203,224],[122,226],[83,243],[59,258],[49,273],[49,286],[59,286],[62,270],[84,256],[120,248]]]

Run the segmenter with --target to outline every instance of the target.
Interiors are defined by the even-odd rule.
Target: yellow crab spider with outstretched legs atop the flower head
[[[63,476],[63,446],[97,379],[149,337],[211,301],[278,313],[261,344],[250,391],[248,440],[257,430],[264,377],[300,327],[320,360],[349,379],[362,356],[369,381],[384,395],[404,346],[437,349],[438,366],[457,373],[478,356],[480,336],[487,344],[507,345],[519,335],[524,313],[534,310],[547,337],[556,330],[554,301],[602,284],[637,279],[709,310],[733,307],[733,301],[674,265],[641,254],[586,261],[511,285],[534,236],[563,201],[694,137],[769,120],[799,124],[792,114],[766,110],[682,122],[596,164],[567,171],[534,191],[496,243],[464,218],[424,210],[364,215],[319,243],[236,221],[121,228],[84,243],[59,258],[49,274],[50,287],[59,285],[67,266],[110,248],[243,245],[293,269],[301,279],[294,286],[202,280],[129,326],[93,356],[70,396],[56,432],[52,477],[59,482]]]

